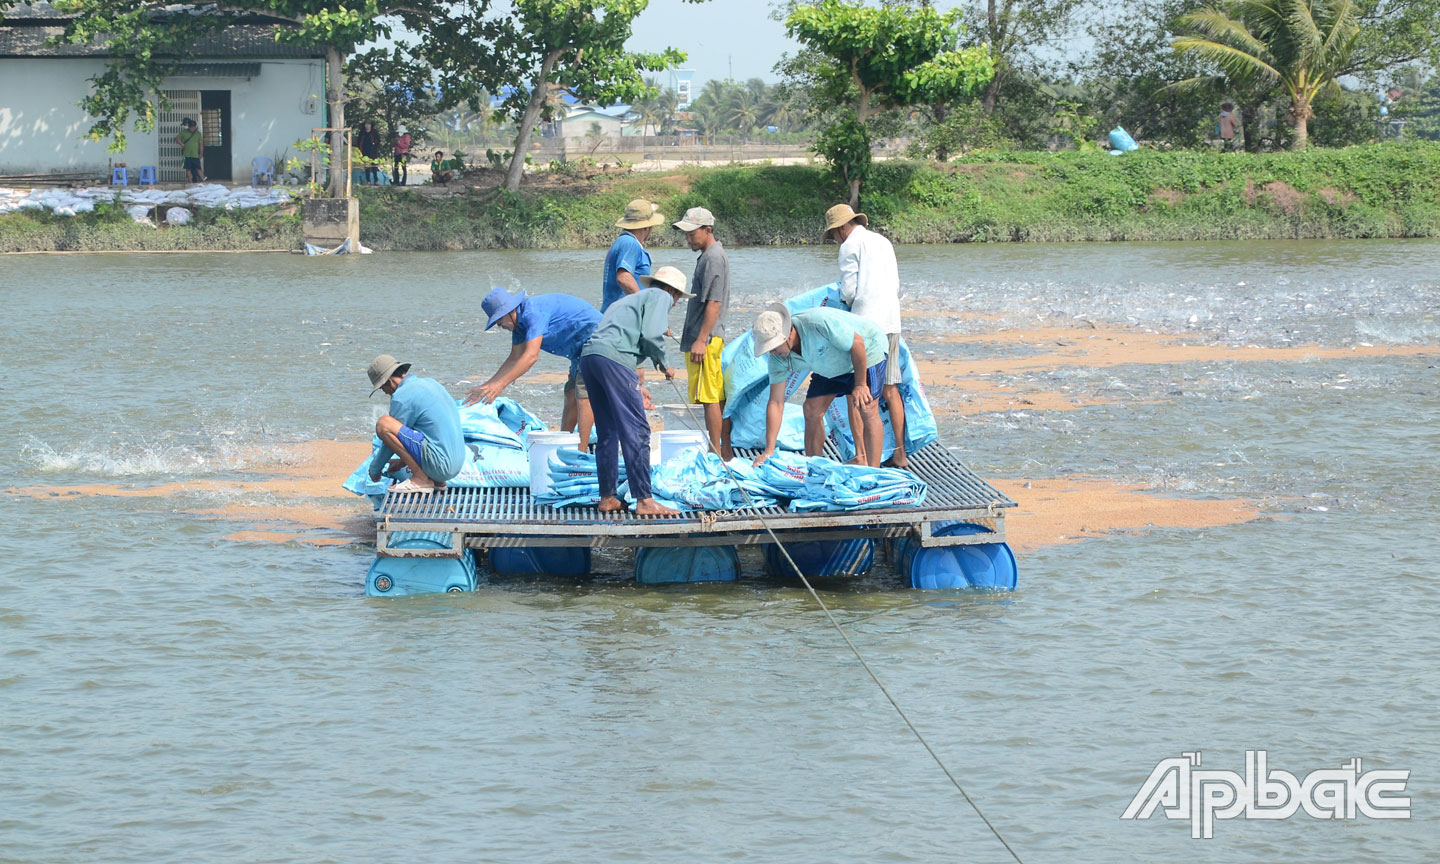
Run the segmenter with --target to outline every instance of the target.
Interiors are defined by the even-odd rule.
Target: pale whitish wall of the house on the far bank
[[[228,58],[213,62],[245,62]],[[158,157],[154,132],[127,128],[127,150],[108,153],[109,140],[91,141],[91,120],[79,108],[89,78],[105,60],[69,58],[0,58],[0,174],[32,171],[107,173],[111,161],[153,166]],[[230,153],[233,177],[249,180],[251,158],[275,158],[324,125],[324,62],[261,60],[258,78],[173,78],[164,89],[230,91]],[[318,108],[304,114],[314,98]]]

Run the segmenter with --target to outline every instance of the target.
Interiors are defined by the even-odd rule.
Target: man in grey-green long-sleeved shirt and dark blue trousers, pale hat
[[[619,456],[625,454],[625,477],[635,498],[638,516],[675,513],[657,503],[649,490],[649,420],[639,393],[635,369],[651,360],[657,369],[674,379],[665,364],[665,331],[670,310],[685,291],[685,275],[672,266],[662,266],[654,276],[641,276],[649,288],[616,301],[600,315],[595,336],[580,351],[580,374],[590,392],[595,410],[595,469],[600,481],[600,513],[624,510],[619,500]]]

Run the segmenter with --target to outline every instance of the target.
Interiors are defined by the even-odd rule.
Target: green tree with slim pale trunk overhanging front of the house
[[[86,134],[111,138],[111,150],[125,148],[125,128],[154,130],[164,104],[161,84],[193,56],[194,45],[242,23],[274,20],[285,24],[275,39],[325,52],[325,105],[331,128],[346,127],[344,62],[356,46],[390,35],[402,7],[393,0],[217,0],[204,6],[174,6],[164,0],[66,0],[62,42],[104,43],[111,59],[91,78],[81,107],[94,121]],[[405,17],[405,16],[400,16]],[[331,132],[330,151],[341,153],[341,132]],[[330,173],[328,194],[340,196],[344,176]]]

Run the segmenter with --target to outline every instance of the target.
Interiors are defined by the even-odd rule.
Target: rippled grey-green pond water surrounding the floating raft
[[[1440,243],[899,252],[942,438],[981,474],[1261,513],[1037,544],[1005,596],[822,586],[1020,855],[1434,860]],[[228,539],[295,501],[217,482],[369,435],[374,354],[461,393],[508,350],[490,287],[598,301],[602,255],[0,262],[7,485],[131,492],[0,494],[0,861],[1009,860],[793,583],[641,588],[602,556],[370,600],[364,543]],[[732,251],[733,330],[834,255]],[[1211,353],[1015,363],[1117,330]],[[968,408],[945,370],[971,361],[1074,406]],[[510,395],[554,419],[563,372]],[[1120,819],[1161,759],[1247,749],[1410,769],[1414,815]]]

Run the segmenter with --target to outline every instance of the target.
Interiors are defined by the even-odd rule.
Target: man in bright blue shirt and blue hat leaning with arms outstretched
[[[560,429],[572,432],[579,423],[580,452],[590,446],[590,397],[580,379],[580,348],[600,323],[600,312],[579,297],[569,294],[540,294],[526,297],[524,291],[510,294],[495,288],[481,301],[488,320],[485,330],[500,324],[513,336],[510,356],[495,374],[465,395],[465,405],[494,402],[540,359],[540,351],[570,361],[570,377],[564,382],[564,408]]]

